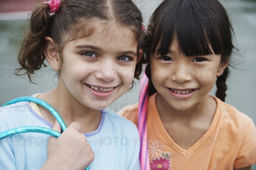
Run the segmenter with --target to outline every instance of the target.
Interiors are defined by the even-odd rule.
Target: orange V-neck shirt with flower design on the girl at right
[[[166,132],[157,111],[156,96],[148,98],[147,108],[151,169],[231,170],[256,163],[256,128],[247,115],[214,97],[218,107],[209,129],[185,150]],[[138,108],[131,106],[119,114],[137,125]],[[179,141],[192,143],[195,138]]]

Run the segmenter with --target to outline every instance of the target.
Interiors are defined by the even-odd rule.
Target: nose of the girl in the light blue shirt
[[[118,69],[115,67],[115,64],[108,60],[101,63],[100,66],[94,70],[94,76],[105,82],[111,82],[116,79],[117,71]]]

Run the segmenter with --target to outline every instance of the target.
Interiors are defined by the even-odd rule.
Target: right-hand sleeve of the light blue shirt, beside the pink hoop
[[[140,139],[139,132],[135,125],[131,128],[131,136],[126,147],[125,167],[127,170],[140,170]]]

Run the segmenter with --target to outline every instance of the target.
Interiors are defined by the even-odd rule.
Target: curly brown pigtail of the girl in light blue
[[[49,6],[44,4],[35,8],[29,20],[29,33],[23,41],[19,54],[18,62],[21,68],[16,69],[16,75],[27,75],[29,81],[32,81],[32,74],[39,70],[44,64],[44,49],[46,47],[45,37],[49,36],[49,26],[51,16],[49,16]],[[20,72],[25,70],[24,72]],[[35,84],[35,83],[34,83]]]

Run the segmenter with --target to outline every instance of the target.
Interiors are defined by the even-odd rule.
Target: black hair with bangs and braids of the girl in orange
[[[176,38],[180,51],[187,57],[214,53],[220,54],[221,63],[227,63],[234,48],[232,33],[227,12],[218,0],[164,0],[151,16],[143,50],[150,64],[150,54],[157,51],[166,55]],[[145,73],[149,78],[148,95],[154,94],[157,91],[149,65]],[[222,101],[225,101],[228,74],[227,66],[216,81],[216,96]]]

